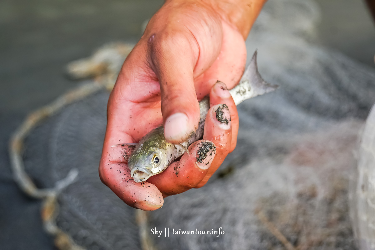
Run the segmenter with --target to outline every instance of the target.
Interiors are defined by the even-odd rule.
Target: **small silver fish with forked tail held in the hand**
[[[236,105],[246,99],[269,93],[278,86],[271,85],[263,80],[258,72],[257,51],[255,51],[249,66],[246,68],[240,83],[229,90]],[[198,141],[203,136],[204,123],[210,108],[209,97],[204,97],[199,102],[201,118],[198,129],[186,141],[181,144],[172,144],[164,138],[163,126],[151,130],[138,144],[135,145],[127,165],[135,182],[146,181],[153,175],[163,172],[170,163],[185,153],[187,147]]]

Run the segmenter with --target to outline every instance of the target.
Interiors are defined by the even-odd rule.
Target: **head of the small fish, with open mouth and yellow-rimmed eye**
[[[135,182],[146,181],[166,168],[167,159],[158,148],[148,148],[147,153],[135,152],[127,165]]]

